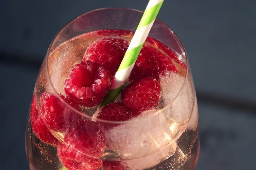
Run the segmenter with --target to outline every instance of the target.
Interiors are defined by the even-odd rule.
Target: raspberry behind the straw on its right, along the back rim
[[[159,76],[166,71],[178,73],[171,58],[154,47],[144,45],[131,71],[129,81],[133,82],[144,77],[152,77],[159,80]]]

